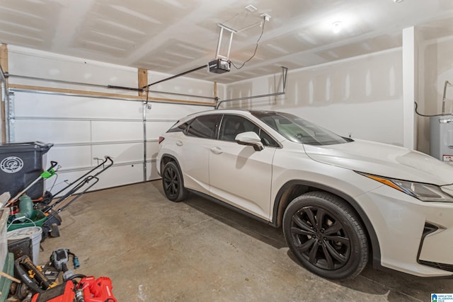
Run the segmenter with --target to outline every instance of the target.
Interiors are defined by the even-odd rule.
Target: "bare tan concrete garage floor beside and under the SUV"
[[[42,243],[79,257],[76,273],[113,280],[118,301],[430,301],[452,279],[368,266],[329,281],[301,267],[275,229],[195,195],[169,202],[161,181],[84,194],[62,211],[59,238]]]

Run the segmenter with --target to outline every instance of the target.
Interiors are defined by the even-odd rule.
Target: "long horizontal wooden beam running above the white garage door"
[[[130,98],[133,100],[146,100],[147,95],[139,96],[139,95],[125,95],[125,94],[117,94],[117,93],[103,93],[97,91],[79,91],[74,89],[64,89],[64,88],[52,88],[52,87],[42,87],[42,86],[28,86],[28,85],[18,85],[18,84],[11,84],[9,88],[17,88],[23,89],[27,91],[46,91],[50,93],[68,93],[68,94],[76,94],[76,95],[88,95],[88,96],[100,96],[105,98]],[[150,101],[161,101],[161,102],[168,102],[168,103],[183,103],[183,104],[193,104],[193,105],[207,105],[213,106],[215,103],[207,103],[207,102],[197,102],[192,100],[178,100],[174,98],[151,98],[149,97],[148,100]]]

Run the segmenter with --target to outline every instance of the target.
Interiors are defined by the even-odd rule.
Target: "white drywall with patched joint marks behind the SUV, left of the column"
[[[275,74],[232,83],[226,98],[282,91]],[[240,100],[222,108],[292,112],[342,136],[403,145],[401,49],[288,71],[285,95]]]

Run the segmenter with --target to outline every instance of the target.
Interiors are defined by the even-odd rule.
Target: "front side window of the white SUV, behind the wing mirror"
[[[277,141],[269,136],[256,124],[239,115],[224,115],[220,126],[219,139],[222,141],[234,141],[236,135],[242,132],[255,132],[260,137],[264,146],[278,147]]]

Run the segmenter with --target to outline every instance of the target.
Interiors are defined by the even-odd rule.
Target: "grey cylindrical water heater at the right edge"
[[[430,117],[431,156],[453,165],[453,115]]]

